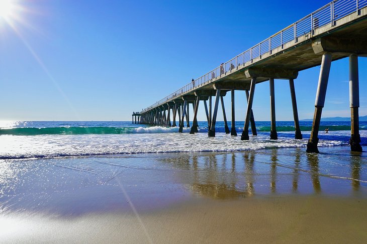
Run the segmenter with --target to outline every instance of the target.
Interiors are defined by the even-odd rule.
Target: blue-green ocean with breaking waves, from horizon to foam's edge
[[[230,123],[229,123],[230,126]],[[277,122],[278,140],[269,139],[270,122],[257,121],[258,135],[241,141],[243,122],[236,122],[239,136],[225,134],[217,122],[216,137],[207,135],[207,122],[199,133],[190,128],[132,124],[131,121],[3,121],[0,123],[0,159],[47,158],[137,153],[244,151],[277,147],[305,147],[312,122],[300,123],[303,140],[294,139],[292,121]],[[323,130],[329,128],[329,133]],[[361,145],[367,144],[367,122],[360,123]],[[251,132],[250,132],[251,134]],[[350,122],[321,122],[319,147],[347,145]]]

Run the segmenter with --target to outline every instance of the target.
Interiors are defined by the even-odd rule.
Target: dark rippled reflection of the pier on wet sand
[[[333,156],[339,158],[336,163]],[[367,158],[362,154],[304,154],[302,148],[291,148],[200,153],[160,161],[180,169],[180,177],[196,194],[221,199],[272,193],[345,195],[358,192],[360,184],[367,186],[367,172],[361,167]]]

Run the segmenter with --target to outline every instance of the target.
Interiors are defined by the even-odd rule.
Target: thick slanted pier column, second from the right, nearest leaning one
[[[331,60],[332,60],[331,53],[324,53],[322,55],[319,84],[317,86],[316,100],[315,100],[315,113],[312,123],[311,136],[307,143],[306,152],[319,153],[319,150],[317,149],[317,143],[319,142],[319,138],[317,136],[319,134],[321,112],[325,104],[326,88],[329,80]]]

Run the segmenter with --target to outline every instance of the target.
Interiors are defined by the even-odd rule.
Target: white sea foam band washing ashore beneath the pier
[[[276,147],[306,147],[309,132],[303,133],[303,140],[295,140],[294,132],[279,133],[278,140],[270,140],[268,132],[250,136],[241,141],[237,137],[217,133],[208,137],[207,133],[177,133],[178,128],[149,127],[136,128],[136,134],[87,134],[87,135],[37,135],[0,136],[0,158],[40,158],[54,156],[204,152],[204,151],[243,151]],[[205,132],[206,129],[199,129]],[[157,133],[151,133],[156,131]],[[159,133],[158,133],[159,132]],[[367,136],[361,131],[361,137]],[[333,131],[321,134],[319,147],[346,145],[350,137],[348,131]]]

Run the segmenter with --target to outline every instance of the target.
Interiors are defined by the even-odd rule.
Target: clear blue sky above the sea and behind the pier
[[[0,120],[130,120],[140,111],[329,1],[16,1],[0,19]],[[359,58],[360,115],[367,115]],[[312,118],[319,67],[295,80],[300,119]],[[276,80],[277,120],[292,120],[289,84]],[[331,65],[323,117],[349,117],[348,59]],[[230,117],[230,94],[225,97]],[[255,120],[269,120],[268,82]],[[245,93],[236,91],[236,120]],[[222,120],[218,115],[218,120]],[[199,119],[205,120],[204,109]]]

